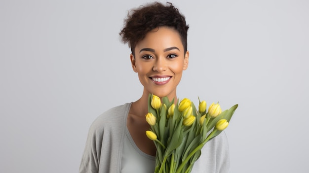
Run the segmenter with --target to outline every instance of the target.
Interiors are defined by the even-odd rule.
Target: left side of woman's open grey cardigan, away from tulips
[[[131,104],[113,107],[91,124],[86,146],[83,152],[79,172],[101,172],[100,169],[111,169],[117,166],[118,152],[126,127],[126,117]],[[111,161],[113,160],[113,161]],[[112,163],[113,164],[110,164]],[[99,166],[100,165],[100,166]],[[109,172],[109,171],[108,171]]]

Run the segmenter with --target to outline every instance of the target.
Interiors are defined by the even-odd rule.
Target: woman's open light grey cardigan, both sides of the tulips
[[[131,104],[104,112],[92,123],[81,158],[79,173],[120,173],[126,120]],[[208,141],[192,173],[228,173],[230,157],[224,132]]]

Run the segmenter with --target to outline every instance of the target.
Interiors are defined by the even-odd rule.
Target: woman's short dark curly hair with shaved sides
[[[154,28],[166,26],[175,29],[182,40],[185,53],[187,52],[187,32],[185,16],[182,15],[172,3],[166,6],[154,2],[129,11],[124,20],[124,27],[119,33],[124,43],[128,43],[134,56],[134,49],[138,41]]]

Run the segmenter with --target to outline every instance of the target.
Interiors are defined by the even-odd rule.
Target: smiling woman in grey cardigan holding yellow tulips
[[[188,68],[185,17],[171,3],[155,2],[132,10],[120,35],[129,44],[133,70],[144,86],[142,97],[114,107],[91,125],[80,173],[154,173],[155,146],[147,138],[148,96],[167,96],[177,103],[176,88]],[[224,133],[209,141],[192,173],[227,173],[228,143]]]

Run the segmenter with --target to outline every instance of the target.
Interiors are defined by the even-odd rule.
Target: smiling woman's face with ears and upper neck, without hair
[[[139,41],[131,54],[132,68],[144,86],[143,96],[149,94],[176,97],[176,87],[183,70],[187,69],[189,52],[184,51],[181,39],[173,28],[159,27]]]

